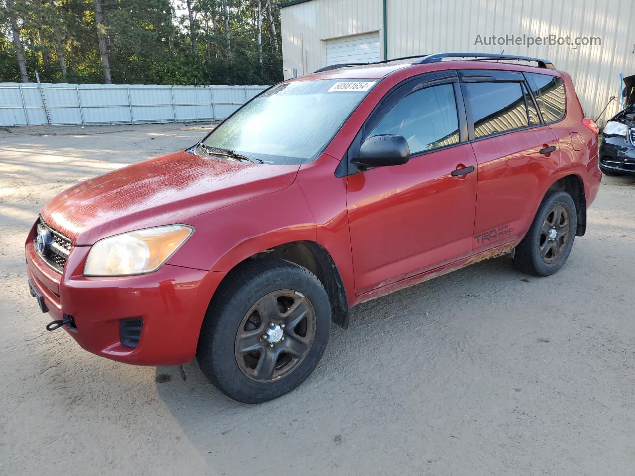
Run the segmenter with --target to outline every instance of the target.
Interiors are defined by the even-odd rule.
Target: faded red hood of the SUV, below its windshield
[[[289,187],[299,165],[176,152],[79,183],[41,211],[74,245],[187,218]]]

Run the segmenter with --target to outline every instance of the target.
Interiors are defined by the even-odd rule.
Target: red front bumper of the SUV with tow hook
[[[225,273],[165,264],[138,276],[86,277],[88,251],[88,246],[72,248],[59,274],[27,242],[29,279],[51,317],[72,317],[75,327],[64,329],[81,347],[118,362],[170,366],[194,359],[203,318]],[[119,339],[119,322],[133,318],[143,319],[134,348]]]

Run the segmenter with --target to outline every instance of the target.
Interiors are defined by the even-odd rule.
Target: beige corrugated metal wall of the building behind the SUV
[[[284,77],[324,65],[324,40],[378,30],[381,0],[311,0],[282,8]],[[620,108],[618,74],[635,74],[632,0],[387,0],[388,57],[485,51],[544,57],[573,78],[587,115],[603,121]],[[596,36],[600,46],[475,45],[476,36]],[[302,45],[302,46],[300,46]],[[383,48],[383,45],[382,45]],[[382,53],[383,57],[383,53]],[[603,122],[602,121],[602,122]]]

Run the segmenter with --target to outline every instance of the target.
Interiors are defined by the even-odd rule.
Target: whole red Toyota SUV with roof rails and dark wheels
[[[196,356],[222,392],[264,402],[362,301],[504,254],[556,272],[600,179],[598,128],[545,60],[338,65],[57,195],[27,237],[29,285],[90,352]]]

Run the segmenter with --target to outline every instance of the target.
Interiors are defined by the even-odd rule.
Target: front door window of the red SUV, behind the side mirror
[[[458,143],[454,86],[419,89],[396,103],[368,135],[401,135],[411,154]]]

